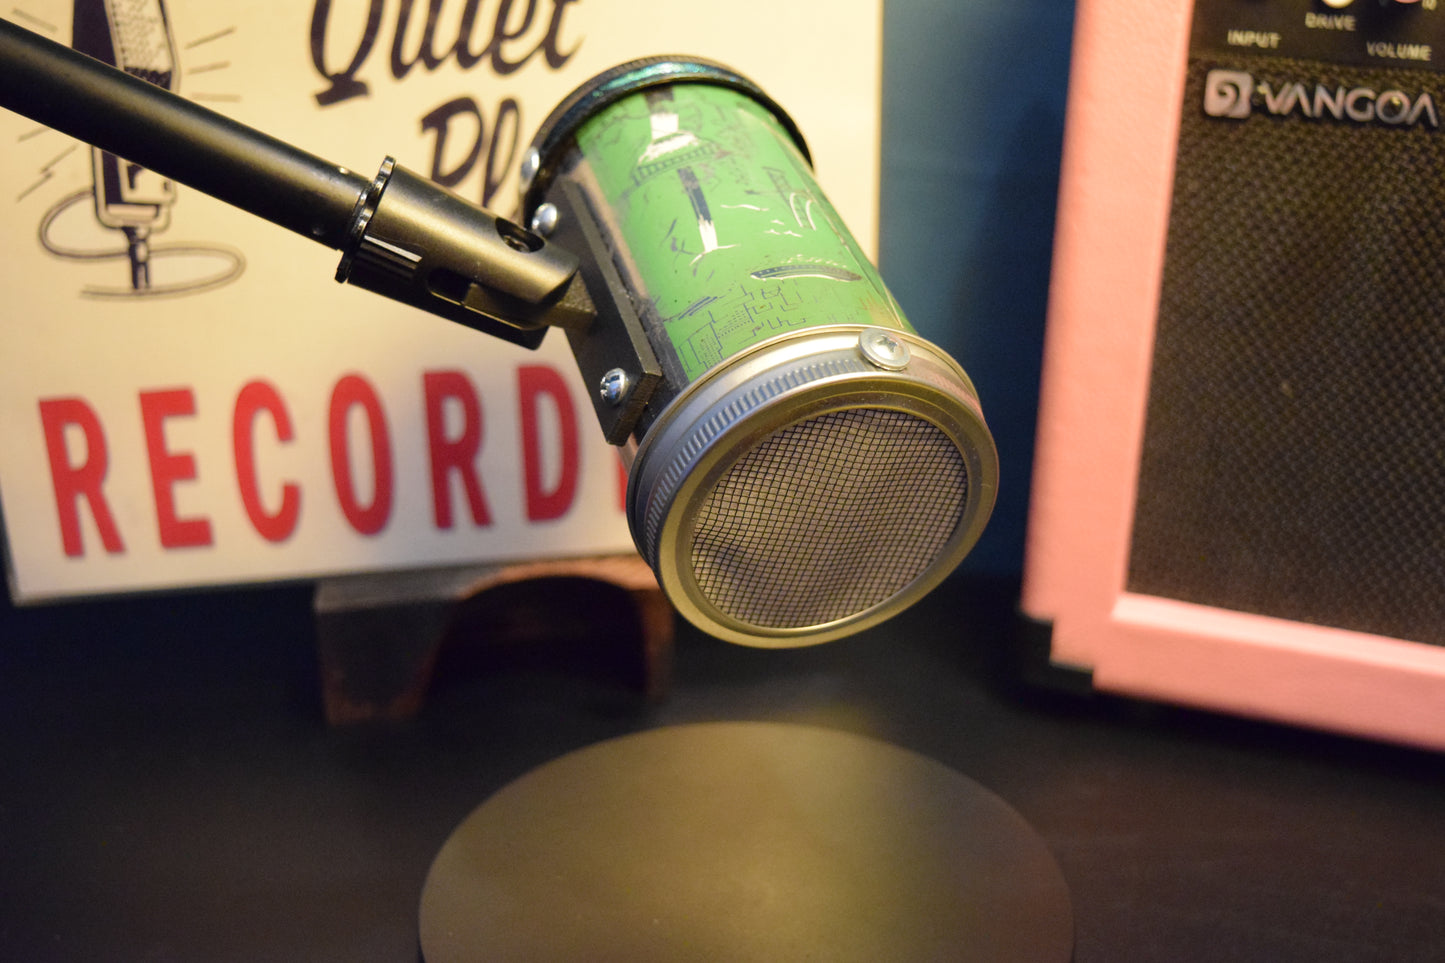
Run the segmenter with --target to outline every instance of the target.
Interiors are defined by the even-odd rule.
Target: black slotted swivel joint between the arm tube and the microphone
[[[337,281],[535,348],[597,311],[565,247],[387,158],[357,198]]]

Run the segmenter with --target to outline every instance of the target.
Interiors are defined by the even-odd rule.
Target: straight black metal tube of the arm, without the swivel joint
[[[0,107],[341,249],[371,178],[0,20]]]

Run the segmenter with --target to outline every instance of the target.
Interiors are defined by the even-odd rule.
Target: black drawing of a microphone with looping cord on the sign
[[[87,56],[163,90],[179,88],[176,42],[162,0],[75,0],[71,36],[71,46]],[[176,185],[169,178],[100,147],[91,147],[91,172],[92,187],[61,198],[39,228],[42,247],[56,257],[129,265],[129,283],[88,285],[81,289],[84,296],[197,294],[223,286],[244,270],[244,257],[230,247],[153,243],[171,227],[176,204]],[[95,223],[107,236],[117,231],[124,239],[123,246],[65,240],[82,228],[62,224],[62,215],[85,202],[91,202]],[[158,259],[168,260],[169,270],[153,270]]]

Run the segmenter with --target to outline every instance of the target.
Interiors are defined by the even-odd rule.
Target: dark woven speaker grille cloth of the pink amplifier
[[[1129,588],[1445,645],[1445,132],[1208,119],[1211,67],[1186,82]]]

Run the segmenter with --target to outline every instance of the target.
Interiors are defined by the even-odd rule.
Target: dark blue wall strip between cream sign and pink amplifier
[[[974,571],[1023,558],[1072,25],[1069,0],[884,3],[879,260],[998,442]]]

